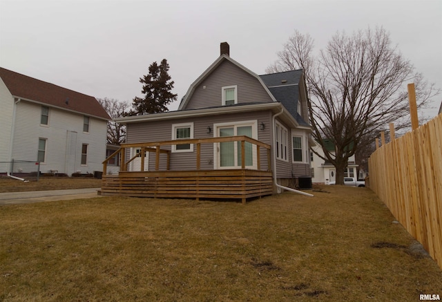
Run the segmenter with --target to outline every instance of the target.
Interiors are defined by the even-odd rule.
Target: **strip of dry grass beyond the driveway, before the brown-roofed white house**
[[[12,178],[0,178],[0,193],[98,188],[101,186],[102,180],[96,178],[41,177],[38,182],[35,180],[23,182]]]

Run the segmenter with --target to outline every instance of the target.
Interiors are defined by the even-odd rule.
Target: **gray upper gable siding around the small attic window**
[[[222,106],[221,89],[231,85],[238,86],[238,104],[272,102],[256,77],[226,60],[195,87],[191,99],[183,109]]]

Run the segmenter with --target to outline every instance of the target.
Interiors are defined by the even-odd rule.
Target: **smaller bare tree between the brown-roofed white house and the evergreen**
[[[108,99],[97,99],[99,104],[101,104],[113,119],[116,117],[124,116],[124,113],[128,111],[130,105],[127,102],[120,102],[119,100]],[[126,126],[124,124],[119,124],[117,122],[108,122],[108,144],[122,144],[126,140]]]

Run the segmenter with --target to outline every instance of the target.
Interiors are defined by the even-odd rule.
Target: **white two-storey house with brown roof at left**
[[[0,104],[0,173],[102,171],[110,117],[95,97],[0,68]]]

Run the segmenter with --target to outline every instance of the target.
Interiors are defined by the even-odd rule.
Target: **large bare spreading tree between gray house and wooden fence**
[[[304,70],[312,135],[323,147],[323,159],[336,167],[336,184],[343,185],[348,159],[363,138],[390,122],[399,129],[409,124],[405,84],[415,83],[418,108],[440,91],[414,71],[383,28],[337,32],[316,57],[313,43],[296,31],[267,71]],[[334,142],[335,152],[327,151],[323,138]]]

